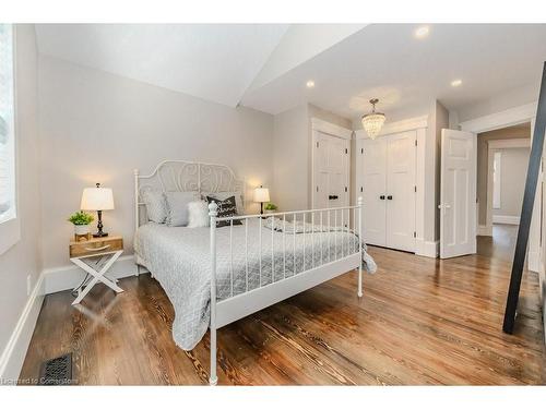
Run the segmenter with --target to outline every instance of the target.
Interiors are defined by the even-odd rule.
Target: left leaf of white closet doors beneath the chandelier
[[[387,140],[363,141],[363,236],[368,244],[387,245]]]

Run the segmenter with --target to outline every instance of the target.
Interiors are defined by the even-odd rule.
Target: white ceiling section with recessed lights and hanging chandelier
[[[546,60],[546,25],[431,25],[414,37],[416,25],[365,27],[260,89],[242,104],[271,113],[304,101],[347,118],[370,109],[411,109],[439,99],[456,109],[505,91],[539,83]],[[312,79],[314,88],[307,89]],[[461,79],[460,87],[450,85]],[[537,89],[538,95],[538,89]]]

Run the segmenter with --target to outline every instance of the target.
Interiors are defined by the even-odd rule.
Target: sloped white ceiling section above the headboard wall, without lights
[[[287,24],[38,24],[41,53],[235,107]]]

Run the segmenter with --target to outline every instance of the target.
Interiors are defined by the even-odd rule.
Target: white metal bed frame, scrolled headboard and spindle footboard
[[[141,182],[145,180],[146,182]],[[224,165],[204,164],[204,163],[192,163],[186,160],[165,160],[157,165],[155,170],[147,176],[140,176],[139,170],[134,170],[134,221],[135,221],[135,232],[141,224],[147,221],[147,217],[143,217],[143,203],[140,200],[141,193],[144,189],[158,189],[162,191],[197,191],[199,193],[221,193],[221,192],[239,192],[241,199],[245,203],[246,196],[246,183],[241,179],[237,179],[233,170]],[[346,212],[346,219],[344,219]],[[312,265],[310,268],[306,268],[305,265],[305,248],[304,248],[304,270],[301,273],[294,274],[286,277],[286,251],[290,250],[289,244],[286,244],[286,226],[293,224],[296,227],[298,217],[300,221],[307,222],[310,220],[312,226],[317,226],[316,221],[320,222],[320,230],[323,231],[324,226],[333,227],[335,231],[340,229],[347,232],[356,233],[356,229],[351,230],[349,220],[351,212],[353,212],[353,225],[358,226],[357,236],[358,242],[357,246],[342,245],[342,256],[335,260],[330,260],[323,263],[322,245],[320,252],[320,263],[314,265],[314,232],[313,227],[310,232],[306,232],[304,228],[302,237],[304,243],[306,242],[306,236],[311,236],[312,243]],[[261,245],[261,233],[260,238],[260,285],[256,289],[248,289],[248,246],[246,249],[246,274],[247,274],[247,288],[246,291],[234,296],[234,276],[233,269],[230,270],[230,297],[217,300],[216,298],[216,221],[226,220],[229,226],[224,228],[229,228],[229,238],[232,246],[232,234],[234,220],[247,220],[251,218],[259,219],[260,231],[262,230],[263,218],[260,215],[247,215],[247,216],[235,216],[235,217],[217,217],[217,205],[216,203],[211,203],[209,205],[209,216],[210,220],[210,248],[211,248],[211,370],[209,382],[211,385],[217,384],[216,375],[216,330],[234,321],[240,320],[245,316],[253,314],[266,306],[270,306],[276,302],[283,301],[289,297],[293,297],[299,292],[308,290],[316,287],[324,281],[328,281],[334,277],[345,274],[352,269],[358,268],[358,297],[363,297],[363,241],[361,241],[361,217],[363,217],[363,199],[358,197],[356,206],[344,206],[344,207],[333,207],[333,208],[321,208],[321,209],[310,209],[310,210],[297,210],[297,212],[282,212],[266,215],[268,217],[274,216],[283,221],[282,237],[283,237],[283,278],[280,280],[274,280],[272,278],[271,284],[262,285],[262,260],[268,256],[262,254]],[[341,225],[337,226],[337,215],[341,213]],[[316,215],[319,218],[316,220]],[[333,215],[333,217],[332,217]],[[325,216],[325,217],[324,217]],[[332,225],[332,218],[333,225]],[[292,220],[290,220],[292,219]],[[347,221],[347,224],[345,224]],[[248,242],[248,222],[245,222],[245,242]],[[271,234],[275,230],[271,229]],[[293,236],[293,250],[295,250],[296,233]],[[351,244],[351,243],[347,243]],[[335,249],[337,249],[337,242],[334,243]],[[273,245],[272,245],[273,249]],[[335,253],[336,254],[336,253]],[[230,254],[233,263],[233,253]],[[271,251],[272,261],[272,277],[274,272],[274,255]],[[295,252],[294,252],[295,256]],[[145,261],[141,260],[135,254],[136,265],[145,265]],[[147,267],[147,266],[146,266]],[[295,264],[294,264],[295,269]],[[139,270],[139,269],[138,269]],[[151,272],[153,274],[153,272]]]

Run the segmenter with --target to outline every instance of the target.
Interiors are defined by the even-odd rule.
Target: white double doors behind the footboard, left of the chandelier
[[[313,140],[313,208],[348,206],[351,141],[319,131]]]

